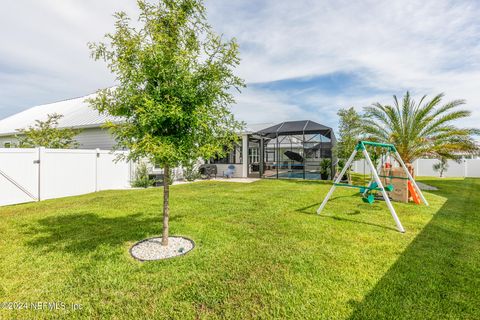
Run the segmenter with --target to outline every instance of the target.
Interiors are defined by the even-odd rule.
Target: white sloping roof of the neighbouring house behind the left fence
[[[98,111],[90,108],[85,100],[94,96],[95,94],[91,94],[80,98],[44,104],[14,114],[0,120],[0,136],[16,134],[18,129],[34,125],[35,120],[47,120],[47,116],[52,113],[63,115],[58,123],[59,128],[97,128],[107,121],[120,121],[120,118],[100,114]]]

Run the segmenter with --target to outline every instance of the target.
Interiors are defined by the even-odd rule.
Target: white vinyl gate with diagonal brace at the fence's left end
[[[38,149],[1,149],[0,206],[38,200]]]

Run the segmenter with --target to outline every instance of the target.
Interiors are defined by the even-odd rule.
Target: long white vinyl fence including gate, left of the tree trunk
[[[130,187],[132,165],[119,152],[1,149],[0,206]]]

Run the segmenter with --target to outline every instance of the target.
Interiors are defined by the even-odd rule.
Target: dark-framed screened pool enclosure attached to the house
[[[331,179],[335,160],[332,128],[314,121],[289,121],[249,135],[248,176]]]

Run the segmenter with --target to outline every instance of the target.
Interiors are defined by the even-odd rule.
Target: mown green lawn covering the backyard
[[[394,204],[405,234],[352,189],[317,216],[320,182],[173,186],[196,248],[146,263],[128,249],[161,233],[161,189],[0,208],[0,303],[67,304],[0,319],[478,319],[480,180],[423,182],[430,207]]]

